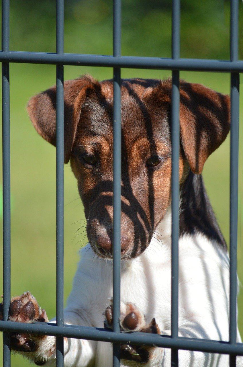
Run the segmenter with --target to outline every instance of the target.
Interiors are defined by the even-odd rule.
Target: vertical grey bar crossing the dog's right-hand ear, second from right
[[[180,57],[180,1],[172,3],[172,58]],[[178,337],[178,240],[179,240],[179,70],[172,72],[171,95],[171,336]],[[178,366],[178,349],[171,349],[171,366]]]

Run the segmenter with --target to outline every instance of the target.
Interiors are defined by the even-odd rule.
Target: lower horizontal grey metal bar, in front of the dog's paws
[[[135,345],[154,345],[163,348],[195,350],[199,352],[235,354],[243,356],[243,343],[230,344],[216,340],[194,338],[171,338],[168,335],[147,333],[115,333],[107,329],[74,326],[65,324],[63,327],[52,323],[25,324],[12,321],[0,321],[0,331],[53,335],[56,337],[98,340]]]

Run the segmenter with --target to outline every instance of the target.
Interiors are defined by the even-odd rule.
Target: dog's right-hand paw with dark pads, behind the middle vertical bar
[[[112,302],[105,310],[105,327],[112,328]],[[141,333],[160,334],[155,318],[146,322],[144,314],[132,303],[121,305],[120,329],[122,332],[139,331]],[[121,345],[121,358],[139,363],[147,363],[155,349],[153,346]]]

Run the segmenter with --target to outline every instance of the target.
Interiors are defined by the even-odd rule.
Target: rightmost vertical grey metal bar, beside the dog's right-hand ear
[[[238,60],[239,2],[231,0],[231,61]],[[230,168],[230,285],[229,342],[236,343],[237,334],[237,224],[238,224],[238,155],[239,155],[239,73],[231,73],[231,168]],[[229,357],[230,367],[236,356]]]

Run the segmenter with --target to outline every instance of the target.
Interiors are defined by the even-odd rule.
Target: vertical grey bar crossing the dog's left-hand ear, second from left
[[[64,0],[56,1],[57,54],[64,53]],[[64,67],[57,65],[57,326],[64,325]],[[64,339],[57,337],[57,367],[64,366]]]

